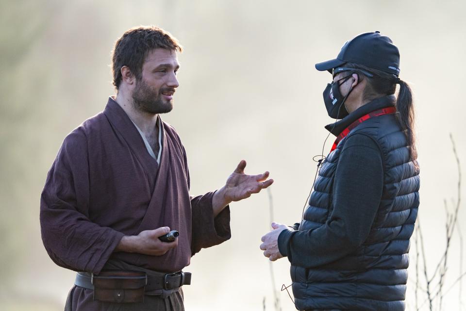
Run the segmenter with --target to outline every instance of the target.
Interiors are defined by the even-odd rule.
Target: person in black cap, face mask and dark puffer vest
[[[324,103],[336,140],[301,222],[272,223],[260,247],[271,261],[291,262],[298,310],[403,311],[419,167],[399,50],[379,32],[363,33],[316,69],[333,75]]]

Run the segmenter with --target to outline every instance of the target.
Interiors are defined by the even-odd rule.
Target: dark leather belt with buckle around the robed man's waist
[[[79,287],[94,290],[94,278],[102,277],[95,276],[88,272],[78,272],[74,284]],[[156,276],[146,275],[141,278],[145,278],[145,292],[177,289],[183,285],[191,284],[191,273],[183,271],[167,274],[160,273],[160,275]]]

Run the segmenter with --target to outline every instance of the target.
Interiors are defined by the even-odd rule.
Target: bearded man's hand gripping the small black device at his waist
[[[178,245],[178,238],[173,242],[162,242],[159,236],[170,232],[170,228],[161,227],[155,230],[145,230],[138,235],[124,236],[115,251],[139,253],[151,256],[162,256]]]

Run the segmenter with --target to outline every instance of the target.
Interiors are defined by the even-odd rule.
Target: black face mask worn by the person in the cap
[[[324,90],[324,103],[325,108],[327,108],[327,113],[333,119],[343,119],[345,116],[349,115],[348,110],[345,107],[345,100],[350,95],[353,88],[350,88],[348,94],[343,97],[340,93],[340,85],[347,82],[352,76],[349,75],[345,78],[342,78],[336,82],[327,84],[327,87]],[[340,82],[341,81],[341,82]]]

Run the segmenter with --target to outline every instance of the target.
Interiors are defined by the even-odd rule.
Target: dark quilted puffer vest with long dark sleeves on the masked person
[[[395,100],[376,99],[328,129],[338,134]],[[296,308],[403,311],[418,190],[395,114],[371,117],[341,140],[320,167],[300,229],[279,236]]]

